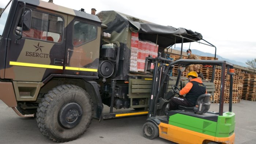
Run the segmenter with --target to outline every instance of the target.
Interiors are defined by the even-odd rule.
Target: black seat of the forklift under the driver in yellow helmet
[[[189,110],[194,111],[196,114],[206,113],[210,109],[211,103],[209,102],[211,94],[202,94],[198,96],[196,100],[196,106],[186,107],[186,106],[178,106],[180,110]]]

